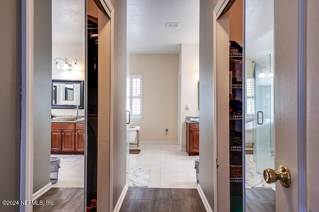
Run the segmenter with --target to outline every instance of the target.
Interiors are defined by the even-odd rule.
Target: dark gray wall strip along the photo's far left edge
[[[20,181],[21,2],[0,2],[0,199],[18,200]],[[2,206],[0,211],[18,211]]]

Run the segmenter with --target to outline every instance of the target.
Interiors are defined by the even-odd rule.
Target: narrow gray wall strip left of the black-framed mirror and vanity
[[[51,0],[34,0],[33,193],[50,183]]]

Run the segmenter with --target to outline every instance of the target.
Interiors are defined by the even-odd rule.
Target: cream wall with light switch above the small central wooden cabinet
[[[186,148],[186,116],[199,116],[198,81],[199,81],[199,44],[181,44],[179,53],[180,68],[180,105],[178,106],[178,143]],[[186,109],[190,104],[190,109]]]

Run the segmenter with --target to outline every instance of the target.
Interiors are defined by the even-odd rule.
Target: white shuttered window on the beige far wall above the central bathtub
[[[129,108],[131,112],[131,120],[138,121],[142,119],[142,75],[130,75],[127,79],[127,85],[130,86]],[[128,106],[127,106],[128,107]]]

